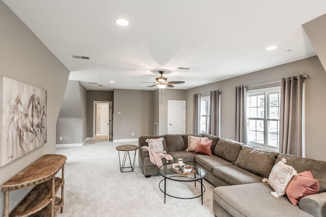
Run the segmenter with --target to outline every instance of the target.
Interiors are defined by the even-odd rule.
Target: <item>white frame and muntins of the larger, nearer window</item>
[[[281,99],[281,87],[273,87],[273,88],[262,88],[262,89],[256,89],[256,90],[248,90],[247,91],[247,99],[248,97],[251,96],[258,96],[258,95],[264,95],[264,118],[251,118],[248,117],[248,102],[247,102],[247,106],[246,106],[246,123],[247,123],[247,138],[248,138],[248,145],[253,145],[262,149],[267,149],[267,150],[271,150],[271,151],[279,151],[279,136],[280,136],[280,132],[276,133],[277,134],[277,147],[275,146],[271,146],[268,144],[268,133],[269,129],[268,129],[268,121],[277,121],[277,125],[278,125],[278,129],[280,127],[280,117],[278,119],[275,118],[271,118],[269,117],[269,112],[270,112],[270,101],[269,101],[269,95],[271,94],[279,94],[279,98],[278,98],[278,102],[279,102],[279,111],[278,111],[278,115],[280,116],[280,99]],[[258,105],[257,105],[258,107]],[[264,143],[257,143],[257,142],[250,142],[249,141],[249,120],[262,120],[263,121],[263,135],[264,135]],[[257,128],[255,130],[257,132]],[[275,133],[274,133],[275,134]]]

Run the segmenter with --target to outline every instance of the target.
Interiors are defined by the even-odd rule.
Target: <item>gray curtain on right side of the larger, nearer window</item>
[[[282,78],[280,111],[280,149],[284,154],[302,156],[303,80]]]

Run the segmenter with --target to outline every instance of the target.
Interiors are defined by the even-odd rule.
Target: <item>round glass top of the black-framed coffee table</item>
[[[179,171],[179,172],[175,171],[175,170],[179,170],[178,167],[174,167],[173,168],[174,170],[171,169],[173,167],[173,165],[176,165],[176,164],[168,164],[168,165],[161,166],[158,169],[159,174],[167,179],[171,179],[171,180],[175,180],[175,181],[185,181],[185,182],[186,181],[197,181],[197,180],[203,179],[206,176],[205,170],[203,170],[199,166],[188,164],[189,166],[192,167],[193,173],[183,173],[182,171]]]

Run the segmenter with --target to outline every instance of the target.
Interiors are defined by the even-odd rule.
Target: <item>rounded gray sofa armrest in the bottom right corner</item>
[[[305,196],[298,206],[315,217],[326,216],[326,192]]]

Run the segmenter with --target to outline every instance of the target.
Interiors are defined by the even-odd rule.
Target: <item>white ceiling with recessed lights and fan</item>
[[[154,83],[158,69],[185,90],[308,58],[302,24],[326,13],[325,0],[3,2],[87,90],[155,90],[140,82]]]

